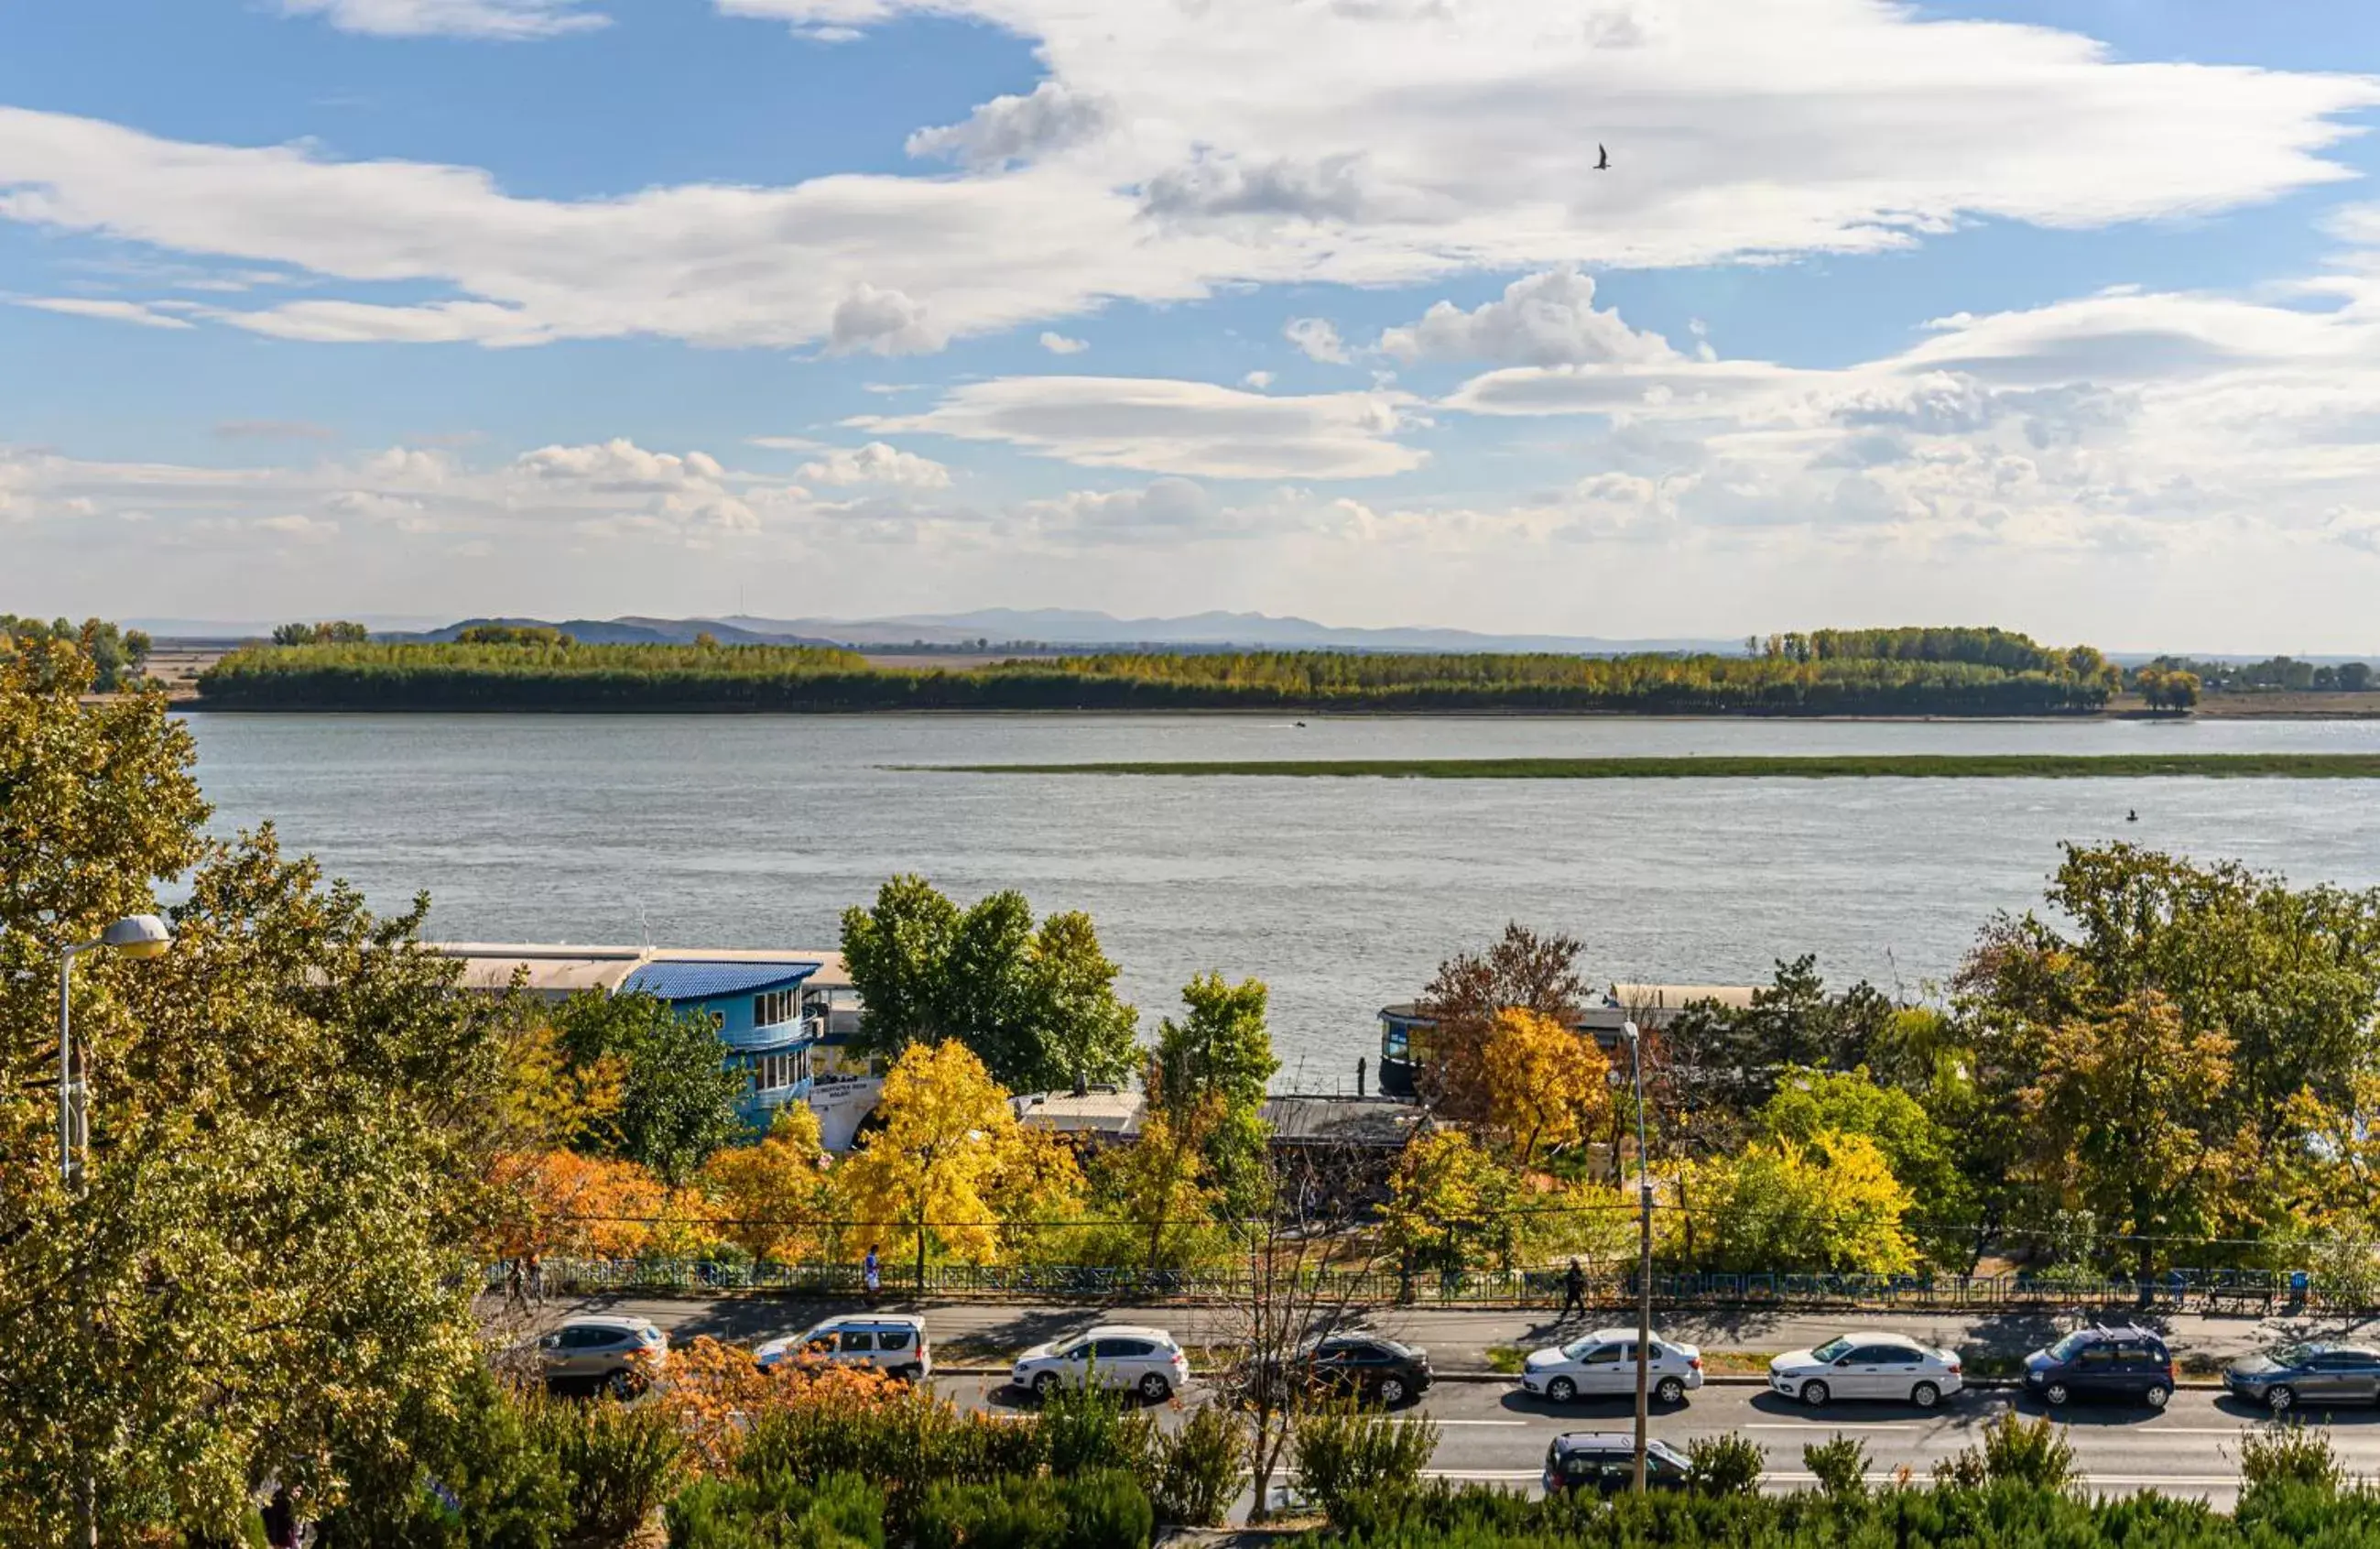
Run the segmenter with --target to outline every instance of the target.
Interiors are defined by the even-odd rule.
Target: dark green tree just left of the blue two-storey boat
[[[735,1116],[745,1078],[728,1068],[709,1018],[652,995],[590,992],[564,1002],[557,1021],[574,1066],[619,1061],[619,1156],[681,1185],[745,1137]]]

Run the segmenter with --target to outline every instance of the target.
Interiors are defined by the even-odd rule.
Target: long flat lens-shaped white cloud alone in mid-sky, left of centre
[[[859,416],[864,431],[1004,440],[1097,469],[1211,478],[1378,478],[1418,469],[1395,440],[1397,393],[1266,397],[1195,381],[1002,376],[962,383],[923,414]]]

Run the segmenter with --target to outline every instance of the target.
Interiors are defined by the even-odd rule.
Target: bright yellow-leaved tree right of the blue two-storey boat
[[[916,1259],[921,1285],[928,1252],[995,1261],[1002,1204],[1047,1192],[1057,1166],[1023,1137],[1009,1092],[959,1040],[909,1045],[885,1073],[876,1121],[866,1144],[835,1166],[835,1194],[869,1247],[892,1242]],[[1081,1173],[1059,1192],[1081,1194]]]

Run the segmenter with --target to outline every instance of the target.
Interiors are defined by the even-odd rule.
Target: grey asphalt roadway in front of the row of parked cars
[[[940,1378],[938,1392],[969,1409],[1023,1411],[1028,1394],[1000,1378]],[[1192,1387],[1188,1404],[1202,1401]],[[1909,1468],[1921,1482],[1933,1466],[1980,1444],[1983,1428],[2006,1409],[2040,1413],[2040,1404],[2006,1390],[1978,1390],[1947,1399],[1937,1411],[1906,1404],[1830,1404],[1804,1409],[1754,1385],[1711,1385],[1683,1406],[1654,1409],[1652,1435],[1685,1447],[1695,1437],[1742,1432],[1768,1454],[1766,1487],[1802,1490],[1811,1473],[1802,1463],[1806,1442],[1833,1435],[1868,1444],[1868,1478],[1878,1485]],[[1478,1480],[1507,1490],[1537,1490],[1547,1444],[1564,1430],[1633,1430],[1628,1399],[1580,1399],[1568,1406],[1533,1399],[1504,1382],[1442,1382],[1416,1409],[1440,1425],[1433,1473]],[[2263,1411],[2228,1394],[2178,1392],[2163,1413],[2116,1404],[2071,1404],[2056,1416],[2075,1449],[2087,1487],[2102,1494],[2197,1497],[2228,1506],[2240,1490],[2240,1437],[2263,1421]],[[2309,1411],[2309,1425],[2328,1425],[2332,1447],[2351,1473],[2380,1473],[2380,1411]]]

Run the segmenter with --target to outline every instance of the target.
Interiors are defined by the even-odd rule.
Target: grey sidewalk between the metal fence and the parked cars
[[[857,1311],[857,1302],[793,1299],[793,1297],[585,1297],[552,1299],[545,1321],[564,1318],[574,1311],[616,1311],[652,1318],[674,1340],[712,1335],[735,1344],[750,1344],[776,1335],[800,1332],[819,1318]],[[1040,1344],[1069,1335],[1092,1323],[1150,1323],[1166,1328],[1190,1347],[1223,1344],[1230,1340],[1233,1316],[1228,1306],[1083,1306],[1083,1304],[1031,1304],[997,1306],[988,1302],[900,1302],[885,1299],[883,1311],[921,1311],[933,1332],[933,1342],[950,1349],[950,1359],[1004,1359],[1028,1344]],[[1635,1328],[1633,1306],[1599,1306],[1585,1321],[1554,1321],[1545,1311],[1492,1311],[1492,1309],[1428,1309],[1428,1306],[1376,1306],[1361,1311],[1364,1325],[1395,1340],[1421,1344],[1430,1352],[1440,1371],[1488,1371],[1488,1352],[1499,1344],[1533,1349],[1576,1340],[1592,1328]],[[1902,1332],[1925,1344],[1940,1344],[1968,1356],[2021,1356],[2049,1344],[2061,1332],[2080,1328],[2090,1318],[2075,1313],[1799,1313],[1799,1311],[1742,1311],[1742,1313],[1676,1313],[1654,1306],[1654,1328],[1673,1340],[1699,1344],[1704,1352],[1756,1352],[1775,1354],[1821,1344],[1840,1332]],[[2109,1318],[2111,1321],[2111,1318]],[[2282,1340],[2347,1337],[2380,1340],[2380,1318],[2225,1318],[2206,1313],[2144,1316],[2142,1325],[2156,1328],[2173,1347],[2175,1361],[2185,1366],[2223,1363]]]

